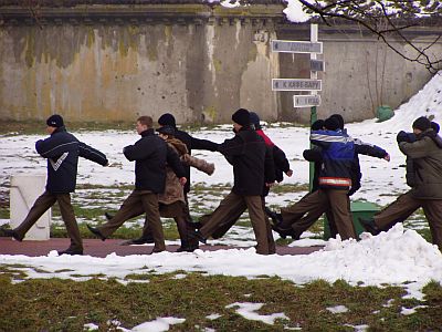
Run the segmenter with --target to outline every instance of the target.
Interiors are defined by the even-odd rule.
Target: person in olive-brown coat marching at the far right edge
[[[442,250],[442,138],[424,116],[417,118],[412,127],[415,141],[407,142],[404,132],[397,137],[399,149],[413,163],[412,188],[372,219],[359,220],[367,231],[378,235],[421,207],[430,225],[432,242]]]

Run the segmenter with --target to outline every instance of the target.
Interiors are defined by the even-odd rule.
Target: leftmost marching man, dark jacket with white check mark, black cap
[[[108,162],[104,154],[67,133],[62,116],[54,114],[48,118],[46,124],[46,131],[51,136],[35,143],[36,152],[42,157],[48,158],[46,189],[35,200],[19,227],[2,229],[2,231],[18,241],[23,240],[28,230],[57,201],[67,236],[71,238],[71,246],[66,250],[59,251],[59,255],[83,255],[83,241],[71,205],[70,194],[75,190],[78,156],[102,166],[107,166]]]

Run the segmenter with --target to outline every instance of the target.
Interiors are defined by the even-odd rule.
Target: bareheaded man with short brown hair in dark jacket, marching
[[[166,245],[158,210],[158,194],[165,191],[166,164],[173,169],[181,185],[187,179],[178,154],[155,134],[150,116],[138,117],[136,129],[141,138],[123,149],[128,160],[135,160],[135,189],[110,220],[97,228],[87,227],[104,241],[141,205],[154,237],[152,252],[160,252],[166,250]]]

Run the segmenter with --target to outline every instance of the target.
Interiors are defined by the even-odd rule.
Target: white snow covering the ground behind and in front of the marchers
[[[414,118],[427,115],[434,121],[442,121],[442,76],[436,75],[425,87],[413,96],[409,103],[396,111],[394,117],[383,123],[375,120],[348,124],[350,135],[386,148],[391,162],[361,158],[364,173],[362,189],[356,198],[386,205],[408,188],[404,184],[404,156],[399,152],[396,134],[400,129],[411,131]],[[231,126],[224,125],[214,129],[201,129],[194,135],[215,142],[231,137]],[[303,149],[308,147],[308,129],[303,127],[272,126],[267,131],[272,139],[285,151],[292,160],[294,176],[285,183],[305,184],[308,180],[308,164],[302,160]],[[105,152],[114,167],[104,168],[87,160],[81,160],[78,183],[113,186],[130,184],[134,180],[133,163],[125,160],[122,149],[138,137],[133,132],[80,133],[76,135]],[[6,136],[0,137],[1,181],[17,173],[43,174],[45,162],[39,158],[33,143],[42,136]],[[213,176],[192,173],[193,183],[225,184],[232,181],[231,166],[222,156],[210,152],[196,152],[217,165]],[[271,196],[270,204],[278,205],[283,196]],[[191,198],[190,198],[191,199]],[[357,242],[332,239],[324,250],[307,256],[259,256],[254,249],[231,249],[219,251],[197,250],[193,253],[161,252],[152,256],[106,258],[95,257],[59,257],[52,251],[46,257],[0,256],[1,264],[24,264],[38,269],[27,269],[30,278],[70,278],[87,279],[92,274],[105,274],[123,280],[129,273],[146,273],[146,267],[157,272],[177,270],[206,271],[209,274],[245,276],[254,278],[263,274],[280,276],[296,283],[305,283],[315,279],[335,281],[346,280],[351,284],[402,284],[410,297],[421,298],[420,290],[431,280],[442,281],[442,256],[432,245],[427,242],[414,230],[404,230],[398,225],[387,234],[378,237],[366,235]],[[70,271],[65,271],[65,267]],[[63,272],[60,272],[63,270]],[[48,271],[48,272],[43,272]],[[56,272],[59,271],[59,272]],[[78,278],[77,276],[85,276]],[[92,278],[92,277],[91,277]]]

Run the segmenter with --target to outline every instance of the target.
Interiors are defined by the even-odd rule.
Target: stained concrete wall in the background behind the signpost
[[[282,9],[95,6],[42,11],[34,22],[20,8],[0,7],[0,116],[57,112],[106,122],[170,112],[179,123],[225,123],[246,107],[267,121],[305,123],[309,108],[294,108],[293,92],[271,91],[273,77],[309,77],[308,55],[271,52],[272,39],[309,38],[309,24],[287,24]],[[319,27],[320,117],[372,117],[378,105],[397,107],[430,80],[422,65],[346,29]],[[415,34],[422,45],[434,37]],[[434,54],[441,51],[439,43]]]

